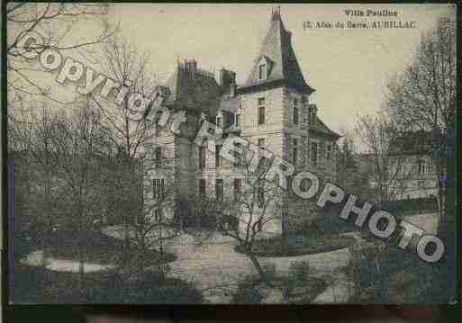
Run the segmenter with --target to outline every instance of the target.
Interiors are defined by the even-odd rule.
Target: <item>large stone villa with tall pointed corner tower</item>
[[[153,210],[155,219],[181,218],[189,211],[187,201],[201,195],[222,200],[245,184],[243,167],[218,156],[220,142],[212,150],[207,143],[195,145],[194,135],[204,120],[222,129],[224,136],[240,136],[283,157],[296,170],[334,179],[340,135],[320,120],[316,104],[310,103],[315,90],[303,77],[291,39],[279,10],[273,10],[253,67],[241,85],[231,69],[213,74],[199,68],[196,60],[177,63],[165,84],[170,95],[164,104],[171,112],[186,111],[186,123],[180,128],[181,135],[168,127],[159,130],[149,147],[159,162],[145,175],[145,205],[175,187],[172,203],[162,211]],[[286,193],[272,212],[280,216],[259,229],[279,233],[287,226],[313,220],[317,209],[313,201],[295,202]]]

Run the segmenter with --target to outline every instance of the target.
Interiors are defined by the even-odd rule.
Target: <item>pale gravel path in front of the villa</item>
[[[104,233],[122,238],[120,227],[106,228]],[[171,267],[170,274],[195,283],[196,288],[204,292],[207,301],[230,302],[240,278],[257,274],[249,258],[233,250],[235,245],[232,238],[222,236],[217,236],[202,246],[195,244],[195,239],[187,235],[169,240],[166,249],[177,256],[175,261],[168,264]],[[261,265],[276,265],[277,274],[285,274],[294,261],[307,261],[316,273],[314,275],[331,277],[329,287],[314,302],[348,301],[350,283],[346,282],[346,277],[340,271],[349,262],[347,248],[316,255],[260,257],[258,260]]]

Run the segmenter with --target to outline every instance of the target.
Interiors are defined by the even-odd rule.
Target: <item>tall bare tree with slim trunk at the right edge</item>
[[[456,22],[441,18],[436,28],[421,37],[417,55],[403,73],[388,84],[387,109],[403,129],[432,133],[432,159],[439,177],[439,231],[445,236],[446,144],[455,136],[457,94]]]

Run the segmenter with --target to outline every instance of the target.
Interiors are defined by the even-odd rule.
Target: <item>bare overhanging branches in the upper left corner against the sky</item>
[[[8,72],[9,103],[20,96],[41,97],[55,103],[69,103],[51,94],[50,86],[43,84],[37,75],[49,73],[33,60],[24,58],[20,52],[23,36],[36,32],[43,38],[43,44],[28,49],[41,53],[46,49],[74,51],[86,57],[86,50],[107,40],[118,26],[111,27],[105,20],[109,4],[68,3],[8,3],[6,4],[7,44],[6,61]],[[75,34],[80,23],[99,23],[101,32],[82,38]],[[72,103],[72,102],[71,102]]]

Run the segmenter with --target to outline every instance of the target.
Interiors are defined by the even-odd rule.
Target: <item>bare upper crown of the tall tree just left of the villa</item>
[[[156,122],[149,112],[167,98],[167,93],[162,91],[150,73],[148,55],[140,55],[119,34],[104,44],[101,67],[107,76],[127,88],[127,94],[116,103],[93,97],[100,109],[103,125],[112,130],[114,143],[127,158],[140,158],[145,144],[152,141],[156,134]],[[146,100],[140,99],[131,104],[131,94],[140,94]]]

